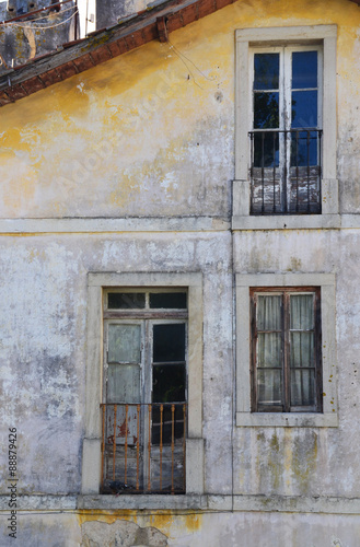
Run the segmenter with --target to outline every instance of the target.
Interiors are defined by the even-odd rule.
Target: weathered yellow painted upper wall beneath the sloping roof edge
[[[228,216],[234,31],[330,23],[346,188],[359,175],[351,151],[360,140],[360,9],[348,0],[240,0],[172,33],[170,44],[152,42],[3,107],[0,217]]]

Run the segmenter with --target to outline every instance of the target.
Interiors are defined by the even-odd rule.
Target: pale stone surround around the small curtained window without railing
[[[252,412],[249,289],[266,287],[321,288],[323,412]],[[337,427],[336,372],[334,274],[236,275],[236,426]]]

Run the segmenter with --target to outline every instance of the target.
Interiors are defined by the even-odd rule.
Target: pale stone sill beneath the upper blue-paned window
[[[318,230],[340,228],[339,214],[234,216],[233,230]]]

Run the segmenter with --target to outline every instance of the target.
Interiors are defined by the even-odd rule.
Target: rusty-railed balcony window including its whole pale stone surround
[[[79,507],[200,503],[201,272],[90,272],[86,346]]]

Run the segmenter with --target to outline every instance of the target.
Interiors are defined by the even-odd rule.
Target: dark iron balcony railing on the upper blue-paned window
[[[251,214],[322,212],[321,129],[249,131]]]

